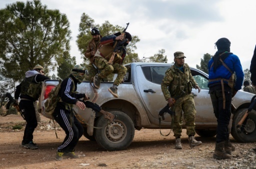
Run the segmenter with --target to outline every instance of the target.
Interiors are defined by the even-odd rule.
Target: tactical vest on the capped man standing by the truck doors
[[[190,69],[188,66],[184,66],[184,73],[177,70],[175,65],[172,65],[167,71],[171,71],[173,80],[171,81],[168,90],[171,96],[179,96],[184,91],[186,94],[190,94],[192,90],[192,82],[189,79]]]

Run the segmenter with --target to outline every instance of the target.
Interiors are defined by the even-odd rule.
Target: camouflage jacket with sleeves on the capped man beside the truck
[[[174,64],[166,70],[161,83],[161,90],[165,100],[180,96],[182,91],[186,95],[190,94],[192,86],[197,85],[186,63],[183,65],[183,70],[184,73]]]

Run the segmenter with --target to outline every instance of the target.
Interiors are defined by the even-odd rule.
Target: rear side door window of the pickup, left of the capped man
[[[141,67],[145,78],[156,84],[161,84],[168,66],[143,66]]]

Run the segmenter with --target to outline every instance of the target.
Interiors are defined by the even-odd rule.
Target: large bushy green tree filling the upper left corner
[[[20,81],[36,64],[47,72],[69,50],[66,15],[40,0],[7,4],[0,16],[0,74],[6,78]]]

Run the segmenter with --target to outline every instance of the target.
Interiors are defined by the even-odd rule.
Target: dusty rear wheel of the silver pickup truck
[[[134,125],[126,114],[119,111],[112,111],[116,115],[115,120],[108,124],[109,121],[100,116],[95,127],[103,127],[95,129],[96,142],[108,151],[118,151],[126,149],[132,142],[134,137]]]

